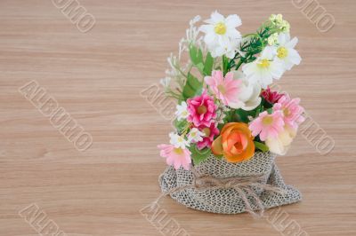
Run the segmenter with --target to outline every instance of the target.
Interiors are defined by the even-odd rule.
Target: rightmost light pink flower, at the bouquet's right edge
[[[298,125],[305,119],[302,116],[304,109],[299,106],[300,98],[289,98],[286,94],[279,98],[278,103],[274,104],[274,111],[281,111],[284,122],[293,129],[298,129]]]

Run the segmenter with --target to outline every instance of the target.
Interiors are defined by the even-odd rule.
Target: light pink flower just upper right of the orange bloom
[[[274,111],[268,114],[266,111],[260,113],[258,117],[249,125],[253,136],[260,134],[262,141],[267,138],[277,138],[279,133],[284,130],[283,114],[281,111]]]

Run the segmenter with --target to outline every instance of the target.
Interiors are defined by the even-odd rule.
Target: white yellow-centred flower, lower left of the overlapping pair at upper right
[[[258,59],[242,67],[247,78],[252,82],[260,83],[263,89],[266,89],[273,79],[278,80],[285,71],[283,65],[274,59],[274,54],[271,47],[266,47]]]

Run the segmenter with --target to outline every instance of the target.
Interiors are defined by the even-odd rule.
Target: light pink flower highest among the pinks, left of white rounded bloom
[[[223,105],[237,106],[242,81],[234,80],[232,72],[223,77],[222,71],[214,70],[212,76],[206,76],[204,80],[210,86],[216,98],[223,101]]]

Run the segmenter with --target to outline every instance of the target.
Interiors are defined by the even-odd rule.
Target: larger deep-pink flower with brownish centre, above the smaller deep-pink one
[[[200,125],[210,126],[216,118],[217,106],[214,104],[214,98],[206,94],[206,90],[200,96],[189,98],[187,117],[188,122],[198,127]]]

